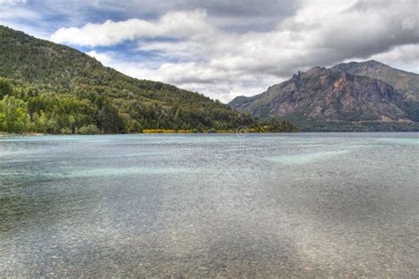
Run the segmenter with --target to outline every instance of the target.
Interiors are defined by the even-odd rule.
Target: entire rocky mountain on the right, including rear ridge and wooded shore
[[[418,131],[419,75],[373,60],[315,67],[229,105],[303,131]]]

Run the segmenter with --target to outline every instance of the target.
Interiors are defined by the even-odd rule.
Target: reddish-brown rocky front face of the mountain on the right
[[[407,94],[390,84],[336,68],[315,67],[230,106],[254,117],[324,122],[412,122]]]

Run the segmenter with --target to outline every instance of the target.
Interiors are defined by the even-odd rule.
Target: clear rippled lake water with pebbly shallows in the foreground
[[[417,276],[418,180],[418,133],[0,138],[0,276]]]

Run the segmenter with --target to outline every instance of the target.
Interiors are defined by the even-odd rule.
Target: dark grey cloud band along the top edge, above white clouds
[[[0,1],[2,3],[2,1]],[[11,25],[37,26],[48,32],[63,26],[82,26],[88,22],[102,23],[108,19],[157,19],[168,11],[206,10],[209,20],[217,27],[234,32],[266,31],[292,16],[300,4],[295,0],[138,0],[138,1],[3,1],[9,9],[27,9],[39,19],[23,22],[23,18],[8,21]],[[5,7],[4,9],[6,9]],[[1,11],[0,11],[1,20]],[[38,33],[39,33],[38,32]]]

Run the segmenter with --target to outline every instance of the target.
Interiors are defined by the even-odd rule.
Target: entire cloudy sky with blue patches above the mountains
[[[0,0],[2,25],[222,102],[316,65],[419,72],[418,12],[417,0]]]

